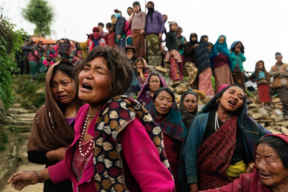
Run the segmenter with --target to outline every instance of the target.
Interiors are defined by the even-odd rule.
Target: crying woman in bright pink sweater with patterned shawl
[[[87,104],[77,114],[75,138],[64,160],[40,171],[22,170],[8,183],[21,190],[49,179],[70,179],[77,192],[173,191],[161,129],[136,100],[123,96],[132,73],[119,46],[89,52],[74,74],[79,99]]]

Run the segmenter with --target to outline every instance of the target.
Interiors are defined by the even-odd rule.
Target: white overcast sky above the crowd
[[[0,0],[4,14],[18,27],[33,35],[34,25],[21,16],[21,8],[29,0]],[[118,8],[127,19],[127,8],[133,0],[48,0],[55,10],[52,39],[69,38],[85,41],[98,22],[111,22],[113,10]],[[145,11],[145,1],[139,1]],[[148,1],[147,1],[148,2]],[[168,15],[168,21],[176,21],[183,28],[183,36],[190,33],[208,35],[213,44],[219,35],[225,35],[230,48],[234,41],[245,47],[244,69],[253,71],[256,61],[263,60],[266,69],[275,64],[275,52],[281,52],[283,62],[288,62],[288,1],[273,0],[154,0],[155,10]],[[166,23],[167,31],[169,26]],[[106,28],[105,28],[106,31]]]

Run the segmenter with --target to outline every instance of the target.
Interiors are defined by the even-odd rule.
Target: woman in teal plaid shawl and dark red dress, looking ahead
[[[174,177],[176,192],[180,191],[178,164],[186,128],[181,119],[175,96],[170,88],[161,87],[153,95],[153,102],[147,107],[154,122],[161,128],[164,137],[164,149]],[[153,142],[157,142],[156,140]]]

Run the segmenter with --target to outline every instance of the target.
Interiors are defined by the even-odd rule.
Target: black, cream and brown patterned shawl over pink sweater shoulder
[[[124,182],[121,141],[117,136],[135,117],[140,119],[146,128],[158,149],[161,162],[171,173],[164,152],[161,129],[153,122],[147,110],[136,100],[127,96],[117,96],[102,107],[95,123],[93,164],[97,191],[128,191]]]

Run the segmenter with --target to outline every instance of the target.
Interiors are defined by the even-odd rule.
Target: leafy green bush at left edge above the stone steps
[[[0,12],[3,8],[0,7]],[[10,19],[0,13],[0,98],[6,110],[14,102],[14,95],[11,90],[13,84],[12,71],[17,68],[16,54],[19,53],[23,44],[26,32],[23,29],[15,30]]]

